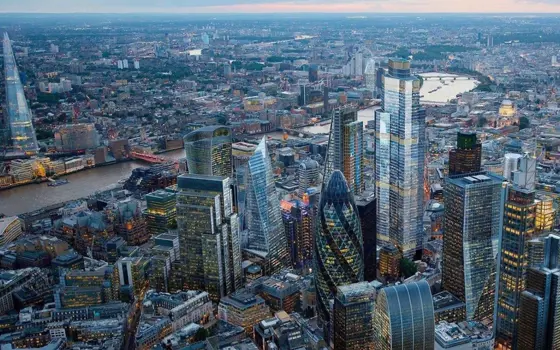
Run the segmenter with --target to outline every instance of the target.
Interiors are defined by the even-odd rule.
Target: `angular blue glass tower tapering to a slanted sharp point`
[[[291,263],[280,200],[264,137],[249,159],[247,170],[246,215],[249,240],[245,252],[261,261],[265,274],[273,274]]]

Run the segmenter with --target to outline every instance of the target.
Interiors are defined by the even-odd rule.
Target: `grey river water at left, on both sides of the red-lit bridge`
[[[185,151],[176,150],[160,156],[176,160],[185,157]],[[133,169],[148,166],[143,162],[125,162],[83,170],[63,176],[70,183],[49,187],[47,183],[30,184],[0,191],[0,213],[19,215],[43,207],[87,197],[97,191],[108,189],[120,179],[128,178]]]

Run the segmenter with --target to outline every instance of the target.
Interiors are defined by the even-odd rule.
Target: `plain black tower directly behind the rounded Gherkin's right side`
[[[364,240],[364,280],[371,282],[377,278],[377,200],[370,191],[355,199]]]

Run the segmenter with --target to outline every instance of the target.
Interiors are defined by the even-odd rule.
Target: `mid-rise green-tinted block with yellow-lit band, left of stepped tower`
[[[177,199],[175,192],[157,190],[146,195],[147,208],[144,216],[148,223],[148,233],[165,233],[177,221]]]

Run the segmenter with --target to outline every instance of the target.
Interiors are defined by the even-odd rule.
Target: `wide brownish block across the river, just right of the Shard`
[[[99,147],[99,133],[94,124],[61,125],[54,132],[58,152],[76,152]]]

